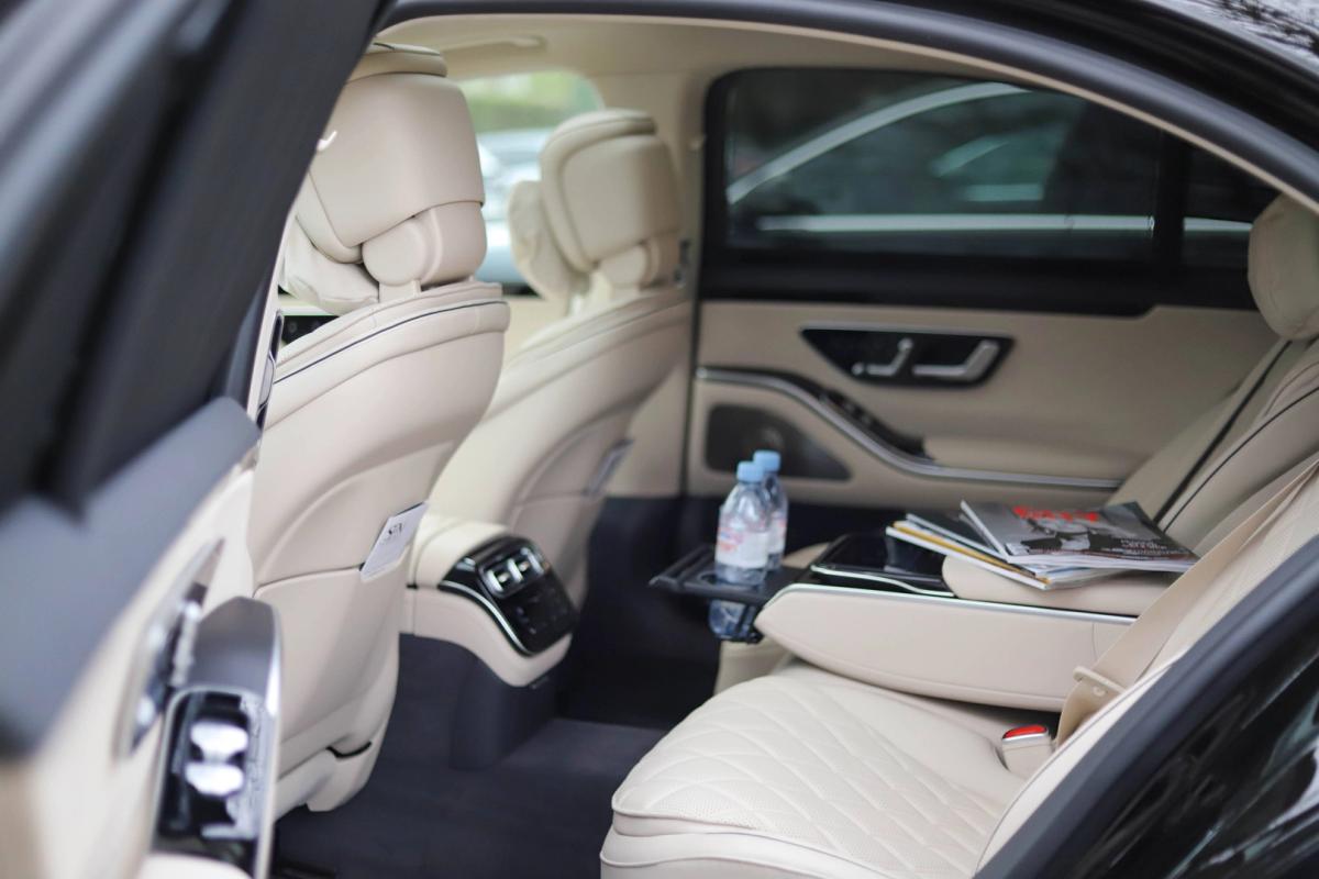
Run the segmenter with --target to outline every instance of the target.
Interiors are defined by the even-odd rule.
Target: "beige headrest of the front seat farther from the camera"
[[[616,290],[663,281],[678,265],[678,183],[656,124],[603,109],[559,125],[541,150],[541,200],[565,261]]]

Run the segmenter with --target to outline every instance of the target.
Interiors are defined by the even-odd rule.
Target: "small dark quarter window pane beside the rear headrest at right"
[[[1245,268],[1250,224],[1277,194],[1217,156],[1192,150],[1182,258],[1188,265]]]

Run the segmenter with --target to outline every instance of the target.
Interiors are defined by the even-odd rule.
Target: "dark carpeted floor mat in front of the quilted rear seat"
[[[361,793],[280,821],[281,857],[340,879],[599,876],[609,797],[661,735],[557,718],[500,763],[468,772],[418,756],[390,726]]]

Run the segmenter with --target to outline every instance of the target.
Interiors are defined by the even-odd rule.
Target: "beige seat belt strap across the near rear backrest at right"
[[[1145,613],[1136,618],[1130,629],[1104,651],[1093,667],[1079,667],[1072,672],[1076,684],[1063,702],[1063,713],[1058,721],[1058,743],[1064,742],[1095,712],[1140,680],[1204,589],[1290,506],[1316,472],[1319,472],[1319,459],[1298,473],[1170,585]]]

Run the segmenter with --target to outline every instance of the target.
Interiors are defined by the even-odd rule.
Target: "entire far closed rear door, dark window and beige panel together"
[[[707,95],[686,473],[785,451],[794,499],[1103,501],[1273,333],[1275,195],[1075,96],[936,72],[747,70]]]

